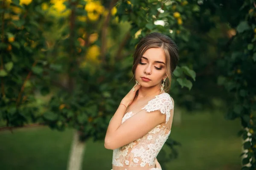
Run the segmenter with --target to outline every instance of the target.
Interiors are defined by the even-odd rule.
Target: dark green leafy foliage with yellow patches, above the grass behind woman
[[[73,127],[81,132],[81,140],[103,139],[118,101],[133,85],[128,80],[133,77],[135,46],[157,31],[172,37],[180,48],[171,88],[175,105],[189,111],[229,108],[227,119],[241,118],[241,134],[249,140],[244,143],[243,164],[252,166],[243,169],[255,169],[253,0],[0,3],[4,126],[38,122],[58,130]],[[170,148],[178,144],[168,140]]]

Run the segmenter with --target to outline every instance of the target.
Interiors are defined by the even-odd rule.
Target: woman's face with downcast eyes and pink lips
[[[162,48],[149,48],[135,70],[135,78],[143,87],[152,87],[166,78],[166,59]]]

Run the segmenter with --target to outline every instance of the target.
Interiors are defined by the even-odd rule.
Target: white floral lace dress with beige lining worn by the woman
[[[151,99],[141,110],[160,111],[166,115],[166,122],[157,125],[140,139],[113,150],[112,170],[161,170],[156,165],[156,157],[171,133],[171,121],[174,105],[169,94],[163,93]],[[136,113],[128,112],[122,123]]]

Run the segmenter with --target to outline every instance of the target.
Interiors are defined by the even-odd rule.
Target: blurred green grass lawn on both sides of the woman
[[[238,121],[224,120],[221,113],[182,115],[172,126],[172,138],[181,142],[178,159],[169,170],[240,170],[241,138]],[[64,170],[73,130],[58,132],[48,127],[24,128],[0,133],[1,170]],[[83,170],[110,170],[112,151],[103,142],[87,142]]]

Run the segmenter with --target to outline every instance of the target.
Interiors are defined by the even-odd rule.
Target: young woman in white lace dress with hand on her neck
[[[113,170],[161,170],[156,157],[171,132],[174,111],[165,91],[178,59],[177,45],[166,35],[151,33],[137,45],[136,84],[120,102],[105,137],[105,148],[113,150]]]

